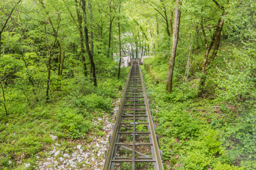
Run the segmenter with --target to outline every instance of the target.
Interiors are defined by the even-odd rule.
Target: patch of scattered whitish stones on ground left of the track
[[[73,152],[65,152],[61,148],[61,142],[57,136],[50,135],[55,140],[55,145],[52,145],[52,150],[45,152],[50,153],[50,157],[43,160],[38,160],[36,169],[94,169],[100,170],[105,163],[105,152],[108,148],[108,140],[112,135],[112,125],[114,116],[117,115],[119,109],[119,100],[113,103],[114,109],[112,115],[105,115],[93,120],[93,125],[103,126],[102,130],[105,136],[88,135],[87,140],[70,140],[70,145],[73,146]],[[111,121],[110,121],[111,120]],[[88,140],[90,139],[90,140]],[[38,157],[40,159],[40,157]],[[29,167],[30,164],[25,164]]]

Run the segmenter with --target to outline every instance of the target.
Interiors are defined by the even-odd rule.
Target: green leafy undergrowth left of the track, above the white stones
[[[99,125],[93,122],[112,114],[112,103],[122,93],[119,86],[124,86],[127,72],[127,68],[122,69],[121,79],[113,73],[101,74],[98,87],[93,86],[90,78],[76,73],[73,78],[63,79],[61,92],[50,91],[48,103],[44,93],[38,102],[33,97],[26,101],[16,86],[9,85],[6,88],[9,115],[4,108],[0,109],[0,169],[23,169],[24,162],[34,169],[38,157],[49,157],[48,151],[53,149],[56,141],[50,135],[64,142],[65,148],[70,145],[65,141],[90,142],[87,135],[104,135],[100,122]]]

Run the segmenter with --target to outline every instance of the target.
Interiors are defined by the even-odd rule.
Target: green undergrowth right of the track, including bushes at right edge
[[[165,58],[144,60],[142,72],[165,169],[256,168],[255,83],[250,71],[256,62],[250,54],[243,56],[247,61],[242,60],[238,51],[220,54],[216,62],[225,60],[225,64],[211,67],[205,98],[198,97],[198,74],[184,81],[177,68],[174,91],[169,94],[165,91]]]

